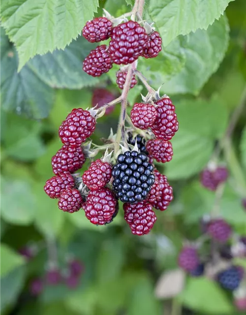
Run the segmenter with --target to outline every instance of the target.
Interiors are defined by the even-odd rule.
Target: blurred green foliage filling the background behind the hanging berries
[[[104,7],[119,16],[130,11],[131,2],[100,1],[95,15]],[[152,6],[153,1],[147,3],[146,18],[155,21]],[[183,291],[165,299],[157,298],[154,288],[163,272],[177,268],[183,240],[200,236],[199,221],[214,206],[215,194],[201,187],[199,173],[215,144],[222,142],[233,111],[246,99],[245,13],[245,0],[232,1],[207,31],[167,36],[170,43],[156,60],[139,60],[138,68],[150,84],[155,89],[163,84],[161,92],[172,98],[180,123],[172,161],[158,165],[175,198],[168,211],[157,213],[152,232],[142,237],[131,235],[123,211],[112,224],[97,227],[82,210],[62,213],[43,190],[53,176],[51,157],[61,147],[57,131],[62,120],[75,107],[91,107],[95,88],[106,88],[117,97],[118,67],[99,79],[89,77],[82,63],[94,46],[79,36],[64,50],[36,55],[17,72],[18,54],[0,29],[1,314],[168,315],[170,308],[172,315],[238,314],[232,296],[205,277],[186,276]],[[129,103],[141,100],[140,93],[147,93],[141,83],[130,91]],[[110,127],[116,130],[119,106],[97,121],[93,142],[108,137]],[[236,233],[246,235],[245,108],[232,145],[223,152],[221,162],[227,164],[230,178],[220,215]],[[88,162],[81,173],[87,167]],[[33,297],[30,283],[44,276],[54,244],[61,269],[75,257],[83,262],[84,272],[74,289],[46,285]],[[36,248],[32,259],[19,253],[26,246]],[[246,266],[245,260],[240,263]]]

